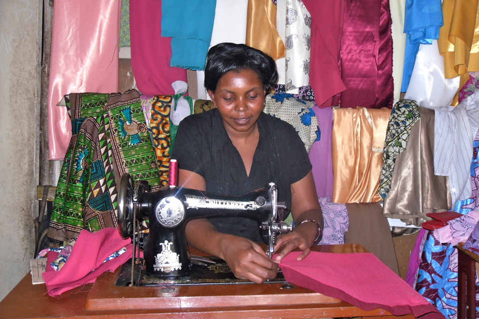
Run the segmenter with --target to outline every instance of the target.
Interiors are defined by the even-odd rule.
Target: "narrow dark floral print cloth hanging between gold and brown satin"
[[[418,104],[413,100],[400,100],[391,110],[379,179],[379,195],[381,198],[385,198],[389,193],[396,157],[406,149],[411,127],[420,118]]]

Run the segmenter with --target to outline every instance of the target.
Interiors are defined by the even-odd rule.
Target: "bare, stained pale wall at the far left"
[[[41,8],[41,0],[0,0],[0,300],[33,254]]]

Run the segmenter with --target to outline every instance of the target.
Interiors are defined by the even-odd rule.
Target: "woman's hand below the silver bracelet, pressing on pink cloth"
[[[297,260],[306,258],[311,252],[310,248],[314,244],[314,239],[317,235],[318,227],[316,223],[308,222],[294,227],[292,232],[281,235],[276,240],[274,252],[277,252],[277,255],[273,259],[280,262],[281,259],[296,248],[303,251]]]

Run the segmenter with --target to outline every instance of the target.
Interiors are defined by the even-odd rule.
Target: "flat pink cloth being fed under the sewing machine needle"
[[[371,253],[300,252],[281,260],[284,278],[295,285],[337,298],[365,311],[383,308],[395,316],[444,318],[423,296]]]

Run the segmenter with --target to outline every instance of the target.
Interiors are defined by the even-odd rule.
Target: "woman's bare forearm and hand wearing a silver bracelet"
[[[281,261],[296,248],[303,251],[297,259],[305,258],[310,253],[314,240],[321,236],[323,215],[311,171],[291,184],[291,214],[296,226],[292,232],[278,237],[274,246],[274,250],[278,251],[274,257],[276,261]]]

